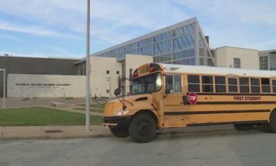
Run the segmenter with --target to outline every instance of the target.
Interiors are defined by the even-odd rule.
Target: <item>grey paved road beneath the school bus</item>
[[[208,128],[210,129],[210,128]],[[276,134],[185,131],[137,144],[130,138],[0,142],[0,165],[276,165]]]

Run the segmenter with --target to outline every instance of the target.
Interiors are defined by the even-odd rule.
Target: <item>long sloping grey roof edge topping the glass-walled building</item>
[[[170,30],[175,30],[175,29],[180,28],[182,26],[187,26],[187,25],[190,25],[190,24],[194,24],[196,22],[198,22],[197,17],[193,17],[193,18],[187,19],[185,21],[181,21],[181,22],[179,22],[177,24],[172,24],[171,26],[167,26],[166,28],[161,28],[159,30],[155,30],[152,33],[148,33],[146,35],[142,35],[141,37],[137,37],[135,39],[128,40],[127,42],[123,42],[121,44],[117,44],[117,45],[112,46],[110,48],[106,48],[106,49],[101,50],[101,51],[99,51],[97,53],[93,53],[92,55],[95,55],[95,56],[101,55],[102,53],[106,53],[106,52],[108,52],[110,50],[115,50],[117,48],[121,48],[123,46],[127,46],[128,44],[139,42],[139,41],[141,41],[143,39],[148,39],[149,37],[154,37],[154,36],[159,35],[161,33],[166,33],[166,32],[168,32]]]

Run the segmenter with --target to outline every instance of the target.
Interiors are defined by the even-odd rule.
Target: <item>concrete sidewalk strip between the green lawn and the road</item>
[[[90,132],[85,126],[37,126],[37,127],[0,127],[0,140],[26,139],[64,139],[110,137],[109,129],[101,125],[90,126]]]

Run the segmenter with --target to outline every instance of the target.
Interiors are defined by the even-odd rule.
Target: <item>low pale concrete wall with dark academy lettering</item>
[[[8,98],[85,97],[85,76],[8,75]]]

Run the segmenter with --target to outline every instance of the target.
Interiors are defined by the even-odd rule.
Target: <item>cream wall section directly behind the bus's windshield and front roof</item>
[[[130,68],[132,68],[132,72],[135,71],[136,68],[143,64],[148,64],[153,62],[153,57],[148,55],[126,55],[126,77],[129,78]],[[130,93],[130,81],[126,80],[126,94]],[[125,95],[126,95],[125,94]]]

